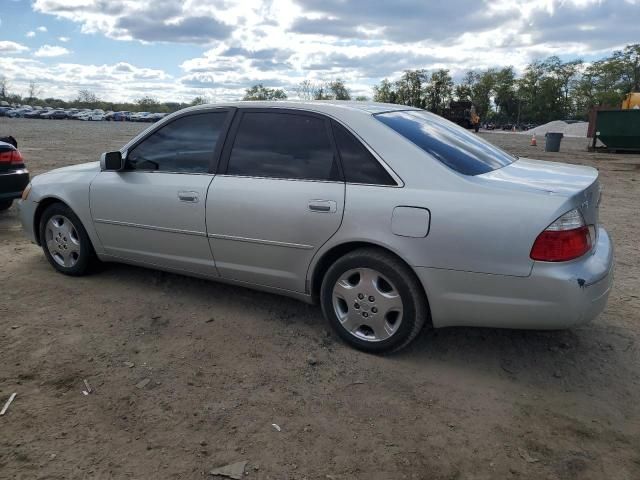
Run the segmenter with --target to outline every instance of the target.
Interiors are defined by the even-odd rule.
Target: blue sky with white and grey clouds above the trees
[[[640,42],[640,0],[0,0],[0,75],[25,95],[237,100],[256,83],[587,62]]]

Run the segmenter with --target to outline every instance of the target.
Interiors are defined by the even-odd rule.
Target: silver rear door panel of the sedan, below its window
[[[345,185],[218,175],[207,230],[222,277],[305,292],[307,267],[339,228]],[[333,202],[314,211],[313,202]]]

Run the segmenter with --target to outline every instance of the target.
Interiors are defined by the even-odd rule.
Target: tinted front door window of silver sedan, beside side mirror
[[[227,114],[199,113],[172,121],[128,153],[127,169],[208,173]]]

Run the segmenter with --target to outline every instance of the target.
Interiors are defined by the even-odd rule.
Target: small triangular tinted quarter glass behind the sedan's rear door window
[[[333,135],[340,152],[345,180],[349,183],[396,185],[391,175],[367,148],[342,125],[333,124]]]

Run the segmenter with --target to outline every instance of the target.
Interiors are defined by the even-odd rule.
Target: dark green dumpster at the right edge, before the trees
[[[612,150],[640,150],[640,110],[598,110],[596,138]]]

